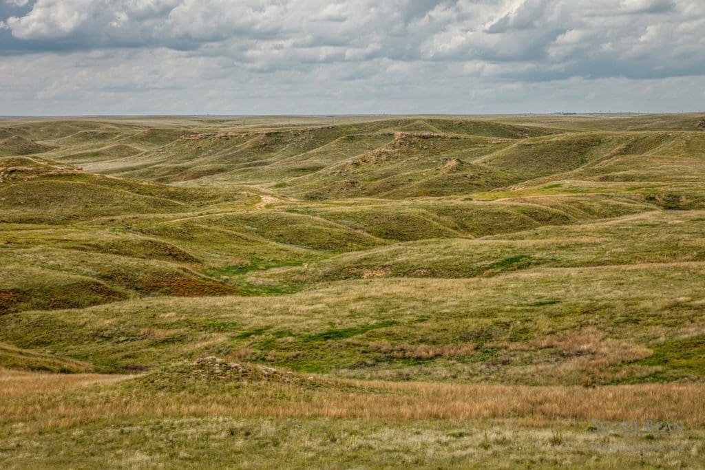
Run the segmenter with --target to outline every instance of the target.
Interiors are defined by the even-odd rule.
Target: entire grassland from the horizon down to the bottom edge
[[[705,466],[701,119],[0,120],[0,466]]]

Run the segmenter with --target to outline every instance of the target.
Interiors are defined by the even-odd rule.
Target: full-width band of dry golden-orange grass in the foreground
[[[645,384],[596,388],[324,381],[323,388],[246,383],[235,392],[150,390],[113,385],[133,376],[0,373],[1,422],[39,429],[101,419],[188,416],[336,419],[522,419],[548,421],[705,420],[705,385]],[[178,378],[175,379],[178,381]],[[314,378],[314,380],[317,380]],[[321,379],[324,380],[324,379]],[[89,385],[97,385],[89,386]],[[124,387],[123,385],[128,385]]]

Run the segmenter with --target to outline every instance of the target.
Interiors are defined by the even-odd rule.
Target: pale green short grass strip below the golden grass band
[[[701,429],[604,435],[521,420],[191,419],[106,421],[18,434],[4,468],[698,468]],[[99,450],[99,452],[97,452]]]

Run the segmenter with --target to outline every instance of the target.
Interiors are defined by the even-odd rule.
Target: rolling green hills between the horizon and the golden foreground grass
[[[0,366],[703,381],[684,119],[2,123]]]

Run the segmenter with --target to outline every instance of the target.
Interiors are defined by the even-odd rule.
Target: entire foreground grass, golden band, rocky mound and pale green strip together
[[[13,406],[0,406],[0,462],[5,468],[703,462],[701,385],[532,388],[318,377],[282,383],[218,375],[195,381],[192,371],[180,366],[152,378],[4,371],[0,396]]]

